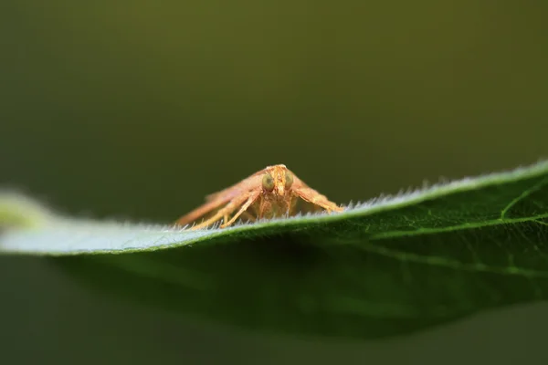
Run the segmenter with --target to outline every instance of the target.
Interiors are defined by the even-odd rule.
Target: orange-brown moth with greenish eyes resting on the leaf
[[[300,199],[309,203],[312,210],[323,209],[328,213],[343,210],[341,206],[330,202],[321,193],[303,183],[285,165],[277,164],[267,166],[225,190],[207,195],[203,205],[184,214],[174,224],[190,224],[209,214],[191,229],[204,228],[220,219],[223,219],[220,227],[225,228],[234,224],[238,217],[255,221],[284,214],[294,215]],[[234,215],[229,219],[231,214]]]

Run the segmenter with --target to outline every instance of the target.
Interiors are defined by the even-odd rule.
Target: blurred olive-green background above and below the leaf
[[[535,162],[546,16],[533,0],[4,0],[0,184],[167,223],[273,163],[348,203]],[[545,305],[326,344],[127,307],[37,259],[1,257],[0,276],[5,364],[548,362]]]

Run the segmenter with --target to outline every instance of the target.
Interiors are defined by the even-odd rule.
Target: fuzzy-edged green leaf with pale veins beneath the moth
[[[0,251],[262,332],[375,339],[548,297],[548,162],[320,214],[186,231],[0,196]]]

